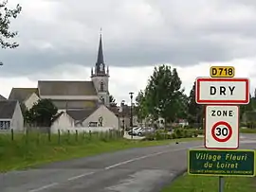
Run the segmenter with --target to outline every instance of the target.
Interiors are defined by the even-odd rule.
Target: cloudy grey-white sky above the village
[[[109,91],[130,102],[154,67],[175,67],[189,94],[210,66],[234,66],[256,88],[255,0],[9,0],[23,9],[10,29],[16,49],[2,49],[0,94],[37,80],[90,80],[99,46],[109,65]]]

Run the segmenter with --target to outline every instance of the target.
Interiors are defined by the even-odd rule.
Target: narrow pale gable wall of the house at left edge
[[[12,115],[10,125],[13,131],[24,131],[24,117],[18,102]]]

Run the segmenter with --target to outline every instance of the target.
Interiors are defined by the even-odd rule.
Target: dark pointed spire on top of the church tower
[[[102,35],[100,35],[100,44],[99,44],[99,49],[98,49],[97,62],[95,64],[95,71],[96,71],[96,74],[95,74],[96,76],[106,75],[105,63],[104,63],[104,58],[103,58],[103,48],[102,48]]]

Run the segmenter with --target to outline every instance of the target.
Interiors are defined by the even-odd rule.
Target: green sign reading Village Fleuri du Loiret
[[[207,176],[255,176],[255,150],[188,151],[188,174]]]

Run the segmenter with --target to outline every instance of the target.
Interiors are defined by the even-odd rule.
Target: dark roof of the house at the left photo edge
[[[0,119],[12,118],[17,100],[0,100]]]

